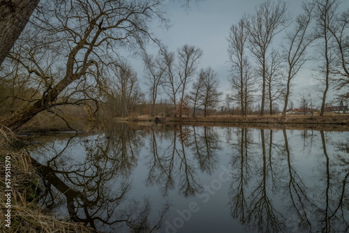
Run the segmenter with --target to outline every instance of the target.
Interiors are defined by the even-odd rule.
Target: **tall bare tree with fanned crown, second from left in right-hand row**
[[[262,70],[262,100],[260,115],[265,110],[265,86],[267,57],[272,40],[280,31],[288,27],[288,13],[284,2],[267,0],[262,3],[254,15],[245,15],[248,22],[248,33],[251,52]]]

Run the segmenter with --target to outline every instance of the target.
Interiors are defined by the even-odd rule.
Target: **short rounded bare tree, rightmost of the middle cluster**
[[[204,107],[204,117],[207,117],[209,107],[215,107],[220,102],[221,92],[218,92],[219,80],[217,73],[209,67],[204,70],[200,104]]]

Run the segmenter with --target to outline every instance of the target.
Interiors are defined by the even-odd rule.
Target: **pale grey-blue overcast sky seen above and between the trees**
[[[244,13],[254,13],[255,8],[262,2],[261,0],[204,0],[199,3],[193,1],[190,10],[185,10],[181,7],[180,1],[168,0],[165,6],[170,13],[172,27],[170,29],[155,29],[154,33],[168,46],[170,51],[175,52],[184,44],[200,47],[204,55],[198,70],[211,66],[218,73],[221,82],[220,91],[225,96],[226,93],[231,93],[228,82],[230,63],[228,63],[228,41],[226,39],[230,27],[232,24],[236,24]],[[288,4],[291,17],[301,13],[302,0],[287,0],[285,2]],[[349,8],[349,1],[344,1],[341,6]],[[279,46],[281,43],[281,40],[275,40],[273,44]],[[156,54],[158,50],[149,46],[148,51]],[[293,80],[295,86],[290,100],[293,100],[295,105],[299,103],[302,91],[311,91],[313,101],[321,96],[320,93],[314,91],[316,81],[313,76],[316,76],[316,70],[309,67],[310,63],[306,66]],[[142,62],[136,61],[135,70],[140,78],[141,86],[144,86],[142,85],[144,83],[142,68]],[[331,91],[328,99],[334,99]],[[320,105],[320,100],[316,104]]]

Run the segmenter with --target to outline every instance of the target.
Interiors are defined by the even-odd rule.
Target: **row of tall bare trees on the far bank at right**
[[[339,91],[339,98],[348,98],[349,83],[349,9],[341,10],[338,0],[304,1],[302,13],[291,20],[286,3],[267,0],[255,13],[245,14],[230,28],[228,54],[231,63],[231,100],[239,103],[241,114],[246,115],[253,103],[257,84],[261,85],[260,115],[265,114],[266,100],[270,114],[273,103],[283,100],[286,114],[292,81],[309,60],[317,60],[320,70],[322,104],[325,112],[327,91],[331,84]],[[283,45],[274,41],[281,38]],[[313,45],[313,56],[306,54]],[[317,57],[317,59],[315,59]],[[257,84],[256,84],[257,83]],[[346,91],[346,93],[343,93]]]

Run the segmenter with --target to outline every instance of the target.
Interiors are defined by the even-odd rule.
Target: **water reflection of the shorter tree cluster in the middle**
[[[165,196],[174,189],[177,179],[179,192],[185,197],[193,197],[201,192],[198,171],[211,174],[216,169],[220,148],[218,135],[212,128],[204,126],[199,130],[200,133],[198,127],[176,125],[158,131],[151,128],[147,185],[156,184]],[[164,137],[166,142],[162,143]]]

